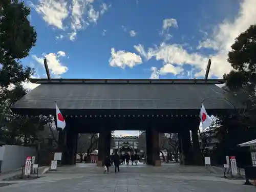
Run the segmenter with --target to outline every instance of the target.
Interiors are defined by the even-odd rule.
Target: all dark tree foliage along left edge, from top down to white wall
[[[43,127],[39,117],[16,115],[10,110],[27,93],[22,82],[34,73],[20,63],[36,42],[36,32],[27,19],[29,14],[24,2],[0,1],[0,140],[6,144],[34,142],[36,131]]]

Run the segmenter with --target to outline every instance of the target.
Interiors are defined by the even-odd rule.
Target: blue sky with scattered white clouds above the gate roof
[[[255,0],[32,0],[36,46],[23,59],[45,78],[222,78]],[[34,84],[25,86],[33,89]],[[129,132],[120,132],[118,135]],[[137,134],[131,132],[130,134]]]

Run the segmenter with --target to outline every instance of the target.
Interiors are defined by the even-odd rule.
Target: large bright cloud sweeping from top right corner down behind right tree
[[[217,53],[211,56],[211,74],[222,77],[232,68],[227,62],[227,54],[231,51],[231,45],[238,35],[256,23],[256,12],[254,10],[255,0],[244,0],[240,4],[239,13],[233,21],[224,20],[215,27],[209,39],[200,43],[201,47],[212,48]]]

